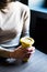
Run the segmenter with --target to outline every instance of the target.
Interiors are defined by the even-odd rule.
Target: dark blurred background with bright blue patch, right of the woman
[[[30,35],[36,49],[47,53],[47,0],[19,0],[31,9]]]

